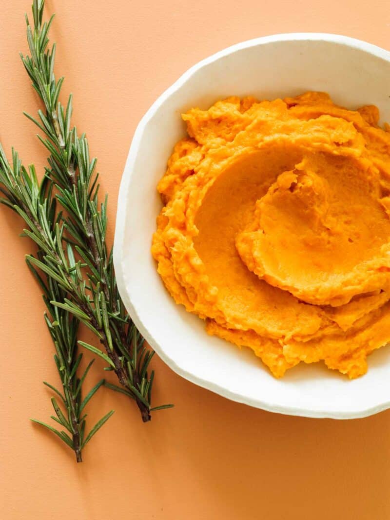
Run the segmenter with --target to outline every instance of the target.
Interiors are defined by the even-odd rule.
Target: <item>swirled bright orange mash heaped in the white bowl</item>
[[[390,134],[324,93],[230,97],[183,114],[158,190],[158,272],[209,334],[277,377],[355,378],[390,341]]]

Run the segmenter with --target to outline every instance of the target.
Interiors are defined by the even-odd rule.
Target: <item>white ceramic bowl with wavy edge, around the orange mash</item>
[[[350,419],[390,407],[390,350],[369,357],[369,371],[349,381],[322,363],[274,379],[249,349],[206,334],[204,322],[165,290],[150,253],[161,202],[156,185],[176,141],[180,113],[217,99],[259,99],[324,90],[339,105],[379,107],[390,120],[390,53],[334,34],[279,34],[233,45],[176,81],[139,123],[123,173],[116,217],[114,263],[124,304],[157,354],[175,372],[229,399],[264,410]]]

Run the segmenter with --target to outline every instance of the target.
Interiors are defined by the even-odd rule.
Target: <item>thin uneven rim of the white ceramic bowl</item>
[[[137,309],[132,301],[132,296],[129,294],[129,290],[127,288],[125,282],[125,275],[123,270],[123,262],[122,262],[122,251],[123,251],[123,243],[124,243],[124,230],[126,225],[126,214],[128,205],[125,203],[127,200],[127,193],[129,189],[129,185],[131,184],[131,180],[133,177],[133,166],[138,153],[138,148],[140,145],[140,141],[144,134],[145,128],[149,121],[152,119],[153,115],[157,110],[163,105],[163,103],[173,95],[179,88],[181,88],[190,78],[201,68],[207,66],[208,64],[219,60],[225,56],[236,53],[239,50],[256,47],[259,45],[264,45],[268,43],[275,42],[285,42],[285,41],[324,41],[331,42],[340,45],[345,45],[348,47],[356,48],[362,51],[365,51],[368,54],[371,54],[375,57],[382,58],[385,61],[390,62],[390,51],[383,49],[377,45],[365,42],[363,40],[358,40],[356,38],[352,38],[349,36],[343,36],[340,34],[332,34],[332,33],[316,33],[316,32],[297,32],[297,33],[281,33],[281,34],[272,34],[269,36],[261,36],[257,38],[253,38],[251,40],[246,40],[229,47],[226,47],[222,50],[217,51],[216,53],[208,56],[198,63],[194,64],[190,67],[186,72],[184,72],[170,87],[168,87],[158,98],[153,102],[151,107],[147,110],[145,115],[142,117],[140,122],[138,123],[131,146],[128,152],[127,160],[125,163],[124,171],[121,178],[119,196],[118,196],[118,208],[116,211],[116,222],[115,222],[115,235],[114,235],[114,246],[113,246],[113,262],[116,274],[116,282],[118,284],[119,292],[122,296],[122,300],[129,312],[129,315],[132,317],[133,322],[135,323],[138,330],[145,337],[146,341],[150,344],[150,346],[157,352],[159,357],[170,367],[174,372],[182,376],[184,379],[197,384],[203,388],[210,390],[220,396],[226,397],[232,401],[240,402],[255,408],[260,408],[270,412],[282,413],[287,415],[297,415],[301,417],[309,417],[309,418],[330,418],[330,419],[357,419],[368,417],[369,415],[378,413],[387,408],[390,408],[390,400],[378,402],[377,404],[369,407],[363,407],[361,409],[354,409],[353,411],[335,411],[335,410],[316,410],[316,409],[308,409],[308,408],[300,408],[291,407],[291,406],[277,406],[269,404],[269,402],[262,400],[261,398],[253,397],[248,398],[248,396],[240,395],[238,393],[233,393],[228,389],[214,383],[208,379],[202,379],[198,375],[194,375],[191,372],[188,372],[183,367],[180,367],[174,359],[168,356],[164,349],[160,347],[160,345],[154,340],[153,335],[149,332],[148,328],[141,321]],[[122,202],[122,203],[121,203]],[[124,211],[125,208],[125,211]]]

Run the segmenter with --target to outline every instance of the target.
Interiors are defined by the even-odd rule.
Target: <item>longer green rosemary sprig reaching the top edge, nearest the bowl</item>
[[[85,134],[79,136],[76,128],[71,127],[72,95],[66,108],[59,102],[63,77],[56,80],[56,45],[48,45],[53,16],[43,23],[43,9],[44,0],[33,0],[33,27],[26,16],[31,56],[21,58],[44,110],[38,111],[38,119],[26,115],[44,134],[38,137],[50,154],[46,175],[58,190],[57,200],[65,210],[58,226],[60,238],[68,242],[70,249],[66,253],[59,248],[54,254],[51,244],[45,244],[46,257],[51,258],[49,268],[38,259],[30,260],[69,294],[63,302],[53,300],[51,304],[73,314],[96,334],[105,352],[79,343],[107,361],[108,369],[115,372],[121,385],[107,386],[134,399],[146,422],[153,410],[172,405],[151,408],[154,371],[149,375],[148,366],[154,352],[146,348],[116,285],[112,250],[109,252],[106,245],[107,196],[99,204],[96,159],[89,158]],[[41,237],[36,235],[33,239]],[[81,258],[75,264],[77,279],[71,273],[70,250]]]

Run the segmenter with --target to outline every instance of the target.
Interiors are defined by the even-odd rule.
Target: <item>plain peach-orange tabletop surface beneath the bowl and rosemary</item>
[[[333,32],[389,48],[388,7],[388,0],[48,0],[47,14],[57,13],[51,36],[64,93],[74,93],[74,121],[109,192],[110,240],[134,129],[188,67],[280,32]],[[42,168],[46,154],[22,115],[37,108],[18,57],[27,49],[25,10],[29,1],[2,2],[0,138],[7,153],[13,145]],[[175,408],[142,424],[125,396],[100,389],[88,405],[89,425],[116,412],[77,465],[54,435],[29,422],[50,421],[42,381],[57,385],[58,376],[40,291],[24,263],[32,244],[18,238],[20,229],[16,215],[0,209],[2,518],[390,518],[390,411],[355,421],[267,413],[194,386],[158,359],[154,405],[173,401]],[[95,363],[88,386],[102,366]]]

